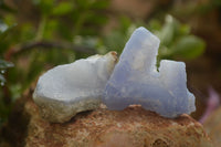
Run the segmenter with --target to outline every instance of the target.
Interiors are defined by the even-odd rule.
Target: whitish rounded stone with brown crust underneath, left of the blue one
[[[63,123],[78,112],[98,107],[116,61],[116,53],[109,52],[59,65],[43,74],[33,94],[42,117]]]

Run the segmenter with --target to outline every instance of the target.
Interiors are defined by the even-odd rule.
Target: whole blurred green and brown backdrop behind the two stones
[[[186,62],[192,117],[218,107],[220,0],[0,0],[0,127],[43,72],[96,53],[119,55],[140,25],[161,40],[158,60]]]

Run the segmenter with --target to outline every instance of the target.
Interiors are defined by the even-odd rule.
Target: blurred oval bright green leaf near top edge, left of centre
[[[52,10],[52,14],[62,15],[70,13],[74,9],[73,2],[63,1],[60,2],[59,6],[54,7]]]

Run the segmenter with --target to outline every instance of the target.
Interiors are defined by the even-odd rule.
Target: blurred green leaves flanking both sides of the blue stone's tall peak
[[[124,49],[133,31],[139,25],[146,27],[160,39],[158,60],[192,60],[200,56],[206,49],[204,41],[191,34],[189,25],[180,23],[169,14],[165,17],[164,23],[152,19],[147,24],[144,22],[136,24],[127,18],[120,18],[119,22],[120,27],[104,39],[104,44],[118,53]]]

